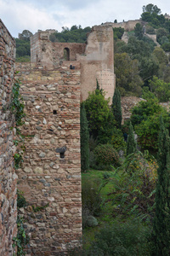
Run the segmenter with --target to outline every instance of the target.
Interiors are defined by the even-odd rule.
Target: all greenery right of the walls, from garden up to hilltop
[[[161,20],[161,10],[152,4],[144,7],[142,17],[145,13]],[[82,174],[83,247],[71,255],[170,253],[170,114],[160,105],[170,97],[169,57],[161,44],[169,31],[161,21],[159,26],[154,22],[145,23],[145,28],[137,24],[127,44],[121,40],[122,31],[115,31],[112,109],[99,83],[84,102],[91,169]],[[145,37],[144,29],[156,34],[161,47]],[[124,125],[118,90],[122,96],[144,98]]]

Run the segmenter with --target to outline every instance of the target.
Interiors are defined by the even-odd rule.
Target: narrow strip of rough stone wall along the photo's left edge
[[[0,255],[13,255],[12,238],[16,236],[16,174],[13,162],[14,117],[10,113],[14,84],[15,43],[0,20]]]

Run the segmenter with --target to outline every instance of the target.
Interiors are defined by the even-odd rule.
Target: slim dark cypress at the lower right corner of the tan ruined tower
[[[114,96],[112,98],[112,113],[116,119],[117,128],[121,129],[122,124],[122,108],[121,108],[121,95],[119,90],[116,88]]]

